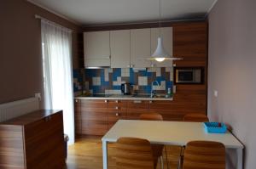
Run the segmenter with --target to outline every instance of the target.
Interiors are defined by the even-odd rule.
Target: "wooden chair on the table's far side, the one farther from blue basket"
[[[162,115],[158,114],[158,113],[145,113],[140,115],[140,120],[143,121],[163,121],[163,117]],[[161,168],[163,168],[164,166],[164,161],[163,161],[163,156],[162,156],[162,152],[164,149],[164,145],[161,144],[151,144],[152,146],[152,150],[153,150],[153,156],[154,156],[154,161],[158,161],[160,160],[160,165]],[[157,162],[155,164],[155,168],[156,168]]]

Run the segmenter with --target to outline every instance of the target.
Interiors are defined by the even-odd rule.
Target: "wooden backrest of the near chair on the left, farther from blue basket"
[[[151,145],[146,139],[119,138],[115,158],[117,169],[154,169]]]

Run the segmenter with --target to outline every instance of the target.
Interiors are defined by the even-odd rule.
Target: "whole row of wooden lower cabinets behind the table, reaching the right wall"
[[[186,100],[186,103],[176,100],[77,99],[75,100],[76,134],[104,135],[116,121],[138,120],[143,113],[159,113],[164,121],[183,121],[183,116],[191,112],[205,114],[204,107],[199,99]]]

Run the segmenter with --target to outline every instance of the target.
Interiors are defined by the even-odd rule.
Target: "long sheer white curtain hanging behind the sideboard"
[[[45,109],[63,110],[64,132],[74,143],[72,32],[41,20]]]

